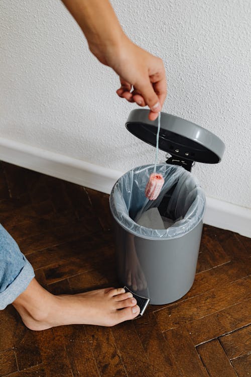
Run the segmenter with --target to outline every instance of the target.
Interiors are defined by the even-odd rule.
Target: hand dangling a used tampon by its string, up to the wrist
[[[96,52],[96,53],[95,53]],[[119,45],[109,46],[96,57],[110,66],[120,78],[117,95],[139,106],[149,106],[149,119],[154,121],[161,111],[167,95],[167,82],[163,61],[135,45],[126,36]]]

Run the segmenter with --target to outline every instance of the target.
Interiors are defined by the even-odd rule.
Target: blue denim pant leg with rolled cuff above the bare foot
[[[0,310],[13,303],[35,276],[30,262],[0,224]]]

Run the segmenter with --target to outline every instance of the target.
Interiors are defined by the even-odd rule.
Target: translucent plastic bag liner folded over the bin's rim
[[[203,218],[205,195],[197,180],[182,166],[160,164],[156,172],[165,179],[159,197],[150,201],[145,188],[153,165],[136,167],[123,174],[114,184],[110,195],[110,209],[114,219],[130,233],[150,239],[181,237],[191,231]],[[138,225],[144,211],[158,207],[161,216],[175,222],[167,229],[150,229]],[[176,221],[178,219],[178,221]]]

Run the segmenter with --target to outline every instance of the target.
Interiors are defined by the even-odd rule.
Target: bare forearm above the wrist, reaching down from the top
[[[108,0],[62,2],[82,29],[91,52],[99,60],[102,60],[106,49],[118,46],[126,38]]]

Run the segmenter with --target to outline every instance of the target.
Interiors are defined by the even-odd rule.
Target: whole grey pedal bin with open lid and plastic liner
[[[156,146],[158,121],[149,121],[148,110],[133,110],[127,129]],[[115,224],[117,273],[120,283],[154,305],[174,302],[192,287],[205,212],[205,195],[191,174],[195,161],[217,163],[223,142],[194,123],[161,113],[159,148],[171,157],[158,164],[165,179],[159,197],[149,201],[145,187],[153,165],[136,167],[122,175],[110,194]],[[158,208],[171,219],[167,229],[138,224],[140,214]]]

